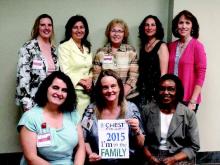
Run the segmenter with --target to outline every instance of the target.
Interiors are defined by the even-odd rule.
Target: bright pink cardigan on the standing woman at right
[[[175,56],[178,40],[168,44],[169,68],[168,73],[174,73]],[[178,65],[178,77],[184,87],[184,101],[190,101],[195,85],[202,87],[206,73],[206,53],[204,46],[197,39],[192,38],[182,53]],[[201,102],[201,95],[197,98],[197,104]]]

